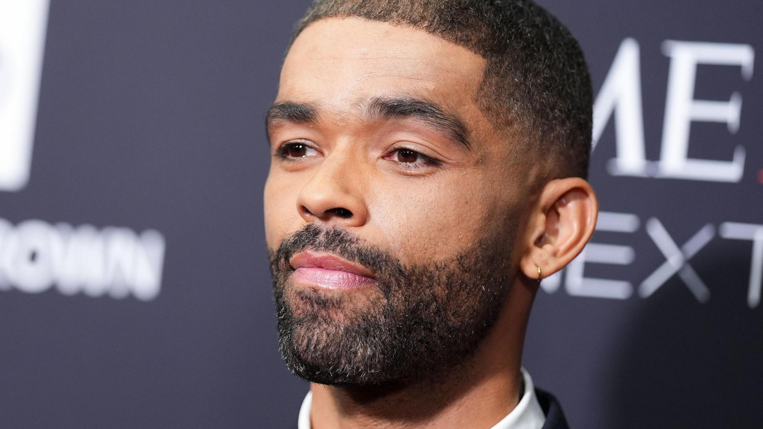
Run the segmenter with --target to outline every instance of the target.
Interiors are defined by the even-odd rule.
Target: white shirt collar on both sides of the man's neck
[[[543,414],[538,398],[535,395],[533,379],[524,368],[521,371],[525,391],[520,399],[520,403],[491,429],[541,429],[543,424],[546,423],[546,414]],[[312,404],[313,392],[307,392],[299,409],[298,429],[311,429],[310,409]]]

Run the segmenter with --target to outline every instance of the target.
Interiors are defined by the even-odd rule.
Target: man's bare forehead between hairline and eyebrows
[[[291,46],[277,101],[351,111],[359,100],[414,95],[475,115],[484,67],[481,56],[426,31],[327,18],[310,24]]]

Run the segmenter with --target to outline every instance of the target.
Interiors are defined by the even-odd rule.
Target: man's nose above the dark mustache
[[[297,197],[299,215],[341,227],[359,227],[368,221],[359,163],[333,153],[320,163]]]

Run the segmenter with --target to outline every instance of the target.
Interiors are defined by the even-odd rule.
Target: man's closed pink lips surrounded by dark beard
[[[363,266],[328,253],[301,252],[289,260],[292,279],[324,289],[349,290],[372,285],[372,273]]]

